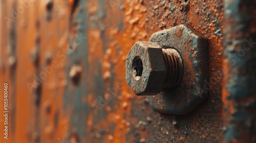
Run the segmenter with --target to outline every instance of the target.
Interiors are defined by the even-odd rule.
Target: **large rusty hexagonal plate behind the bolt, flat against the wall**
[[[180,25],[154,33],[150,41],[164,49],[176,49],[184,64],[182,82],[176,90],[148,97],[152,108],[161,113],[189,113],[208,96],[208,40],[194,29]]]

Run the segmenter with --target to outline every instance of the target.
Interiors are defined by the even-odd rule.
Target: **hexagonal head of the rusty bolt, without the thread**
[[[138,41],[126,57],[126,82],[137,96],[155,96],[163,87],[165,69],[161,47]]]

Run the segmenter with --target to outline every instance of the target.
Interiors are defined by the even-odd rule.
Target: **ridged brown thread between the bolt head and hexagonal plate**
[[[180,53],[175,49],[162,49],[166,74],[164,78],[163,91],[174,91],[183,78],[183,62]]]

